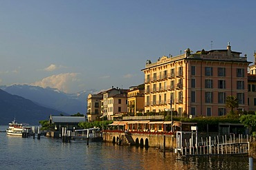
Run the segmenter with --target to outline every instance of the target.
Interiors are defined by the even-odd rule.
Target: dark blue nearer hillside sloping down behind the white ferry
[[[60,115],[61,113],[0,89],[0,125],[8,125],[14,118],[18,123],[39,125],[39,120],[46,120],[51,114]]]

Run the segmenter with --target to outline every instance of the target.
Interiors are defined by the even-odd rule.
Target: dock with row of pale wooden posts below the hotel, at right
[[[188,132],[186,132],[188,133]],[[243,136],[239,134],[235,138],[235,134],[230,136],[209,136],[208,138],[183,138],[183,132],[177,131],[175,153],[178,157],[183,156],[219,156],[219,155],[237,155],[248,156],[249,142],[251,136]],[[199,141],[200,140],[200,141]]]

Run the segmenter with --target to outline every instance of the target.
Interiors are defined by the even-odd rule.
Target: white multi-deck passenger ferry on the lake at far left
[[[30,127],[26,127],[27,124],[16,123],[15,120],[9,123],[8,129],[6,129],[6,134],[10,136],[22,136],[22,132],[28,132],[31,130]]]

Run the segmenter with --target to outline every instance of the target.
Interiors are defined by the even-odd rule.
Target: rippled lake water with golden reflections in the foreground
[[[7,127],[0,126],[0,131]],[[201,156],[176,160],[157,149],[111,143],[62,143],[41,137],[21,138],[0,133],[0,169],[249,169],[247,157]],[[256,162],[254,162],[256,169]]]

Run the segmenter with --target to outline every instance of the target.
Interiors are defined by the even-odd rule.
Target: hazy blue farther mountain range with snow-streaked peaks
[[[58,89],[50,87],[42,88],[31,85],[1,86],[0,89],[3,89],[10,94],[15,94],[32,100],[38,105],[60,110],[67,114],[77,114],[78,112],[80,112],[80,114],[86,114],[86,98],[89,93],[93,93],[91,90],[77,94],[66,94],[60,92]]]

